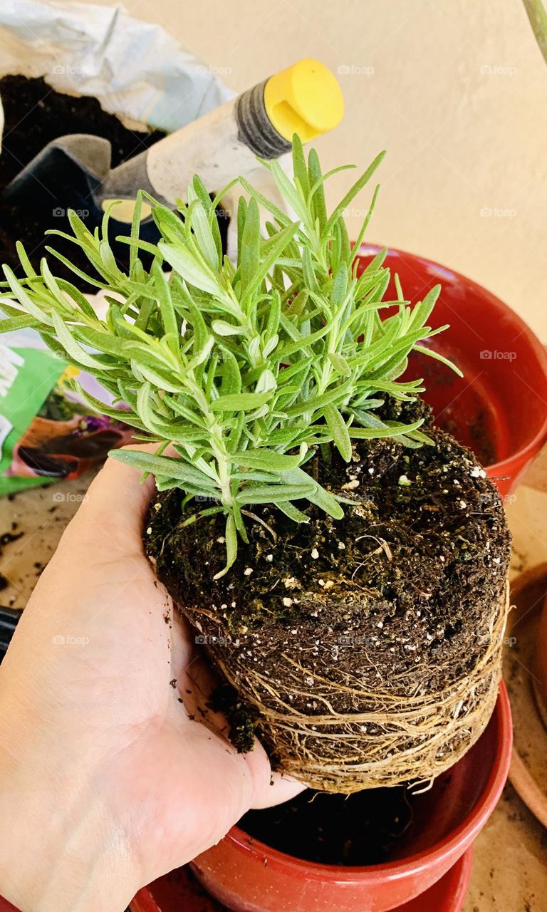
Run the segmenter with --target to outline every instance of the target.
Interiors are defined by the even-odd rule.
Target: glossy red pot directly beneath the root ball
[[[496,710],[479,741],[420,796],[406,851],[384,865],[304,862],[234,826],[194,860],[192,870],[212,896],[236,912],[387,912],[417,896],[420,904],[410,906],[412,912],[453,912],[459,906],[449,902],[460,887],[455,884],[453,895],[445,895],[444,906],[425,905],[426,891],[469,850],[496,806],[509,771],[511,740],[511,709],[501,684]],[[132,907],[156,912],[160,906],[150,900],[155,902],[148,890],[140,891]]]

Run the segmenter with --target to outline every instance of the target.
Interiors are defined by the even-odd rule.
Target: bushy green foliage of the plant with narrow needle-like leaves
[[[113,451],[114,459],[152,473],[160,490],[180,487],[212,505],[191,512],[188,522],[212,513],[226,515],[225,572],[246,540],[245,518],[257,503],[274,503],[295,522],[307,516],[295,502],[314,503],[335,518],[341,497],[305,471],[315,449],[335,446],[349,461],[352,440],[397,437],[407,446],[428,442],[421,421],[405,425],[381,420],[386,395],[408,400],[423,390],[420,380],[399,378],[412,349],[441,358],[420,342],[431,330],[428,317],[439,286],[409,306],[397,281],[397,301],[384,300],[389,270],[386,251],[362,275],[344,221],[346,207],[372,177],[378,155],[335,210],[327,213],[324,183],[315,150],[307,161],[294,137],[294,179],[277,161],[264,162],[294,218],[240,178],[248,202],[237,210],[237,263],[222,255],[215,209],[228,188],[212,200],[199,178],[179,215],[139,193],[129,238],[129,271],[123,272],[108,245],[108,217],[90,233],[74,212],[74,241],[96,275],[47,250],[80,278],[107,292],[108,313],[96,315],[75,285],[56,278],[46,259],[40,274],[22,245],[26,278],[4,267],[7,295],[3,330],[34,327],[60,358],[86,370],[124,403],[123,419],[158,444],[154,454]],[[233,181],[235,183],[235,181]],[[232,186],[233,183],[230,185]],[[376,188],[361,244],[377,198]],[[161,239],[139,240],[142,198],[153,207]],[[268,214],[265,236],[260,207]],[[151,255],[145,269],[140,251]],[[166,274],[166,267],[172,270]],[[386,319],[380,310],[394,306]],[[89,407],[120,417],[88,395]],[[170,454],[166,454],[172,444]]]

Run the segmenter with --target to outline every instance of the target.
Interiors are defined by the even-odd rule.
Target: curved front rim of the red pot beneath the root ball
[[[448,836],[417,855],[410,855],[404,861],[397,860],[386,862],[383,865],[355,867],[324,865],[318,862],[304,861],[301,858],[295,858],[293,855],[285,855],[284,852],[271,848],[258,839],[253,838],[253,843],[249,845],[249,835],[237,825],[232,826],[232,829],[224,838],[245,853],[267,855],[269,860],[276,861],[284,867],[293,868],[295,871],[300,872],[301,876],[305,873],[306,877],[314,877],[320,880],[332,880],[335,878],[338,881],[352,881],[358,878],[359,881],[365,881],[371,885],[373,883],[381,883],[387,879],[397,880],[409,874],[415,874],[417,871],[428,869],[432,864],[439,865],[439,863],[449,859],[450,856],[453,856],[459,850],[458,857],[460,857],[490,817],[498,803],[509,773],[512,746],[511,705],[503,680],[500,682],[500,691],[493,715],[498,723],[496,752],[492,759],[490,776],[478,802],[467,817]],[[455,864],[455,861],[453,864]]]

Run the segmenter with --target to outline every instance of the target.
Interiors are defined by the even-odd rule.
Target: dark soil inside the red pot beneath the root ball
[[[321,865],[380,865],[407,833],[416,796],[405,786],[346,797],[307,789],[291,801],[244,814],[250,840]]]

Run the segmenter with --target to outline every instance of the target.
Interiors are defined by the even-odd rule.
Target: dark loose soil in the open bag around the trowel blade
[[[0,97],[5,112],[4,142],[0,157],[0,193],[48,142],[56,140],[59,136],[69,133],[90,133],[109,140],[112,168],[149,149],[165,136],[161,130],[129,130],[114,114],[103,110],[97,98],[64,95],[48,86],[41,78],[5,76],[0,79]],[[67,219],[69,206],[79,210],[77,213],[91,231],[100,223],[102,217],[102,212],[98,212],[90,203],[89,208],[86,208],[85,199],[81,203],[83,208],[76,205],[71,194],[67,194],[62,178],[59,184],[59,187],[36,187],[33,204],[25,207],[10,205],[2,202],[0,198],[0,264],[8,264],[16,275],[24,275],[15,249],[16,242],[21,241],[36,270],[39,270],[40,259],[46,255],[54,275],[67,279],[82,291],[97,291],[94,285],[81,279],[46,252],[46,244],[53,246],[78,269],[91,277],[98,277],[77,244],[58,236],[45,237],[48,229],[72,235]],[[223,244],[228,221],[225,217],[219,219]],[[147,240],[156,240],[153,227],[143,231],[147,232]],[[129,246],[115,241],[119,233],[127,233],[127,230],[120,223],[112,223],[108,240],[120,268],[127,270]],[[147,257],[148,254],[141,255],[145,267],[148,265]],[[0,277],[4,278],[1,272]]]

